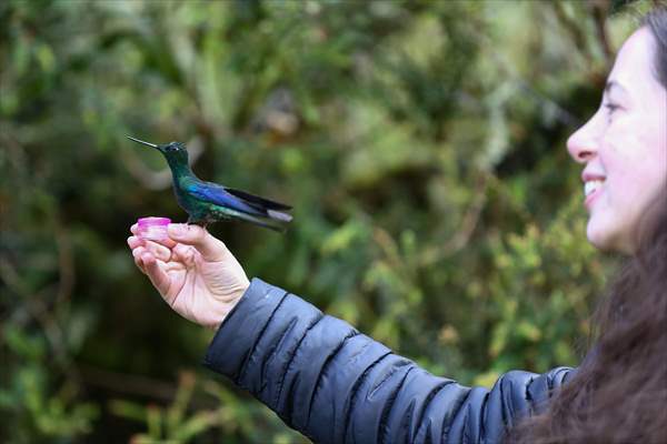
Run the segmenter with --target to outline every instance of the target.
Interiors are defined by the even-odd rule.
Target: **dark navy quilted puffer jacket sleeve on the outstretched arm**
[[[205,359],[316,443],[496,443],[574,375],[512,371],[489,391],[435,376],[253,279]]]

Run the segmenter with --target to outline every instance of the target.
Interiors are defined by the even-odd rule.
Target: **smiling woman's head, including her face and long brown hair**
[[[576,377],[508,441],[667,443],[666,109],[663,7],[626,41],[601,108],[568,140],[594,180],[588,240],[630,259],[594,315],[598,340]]]

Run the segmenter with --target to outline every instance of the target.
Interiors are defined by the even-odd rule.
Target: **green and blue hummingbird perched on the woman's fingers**
[[[165,155],[171,169],[176,200],[188,213],[188,223],[206,228],[212,222],[236,219],[283,232],[292,219],[285,213],[291,210],[285,203],[197,178],[188,164],[188,150],[183,143],[155,144],[129,135],[128,139],[152,147]]]

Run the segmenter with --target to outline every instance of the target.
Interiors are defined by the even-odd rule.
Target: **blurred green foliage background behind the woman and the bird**
[[[293,204],[286,235],[212,232],[429,371],[577,365],[615,260],[565,141],[646,6],[2,2],[0,441],[305,441],[135,268],[136,219],[185,213],[126,134]]]

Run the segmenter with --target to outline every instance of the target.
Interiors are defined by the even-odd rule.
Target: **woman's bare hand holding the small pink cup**
[[[137,236],[128,245],[135,263],[181,316],[218,329],[250,285],[246,272],[225,244],[198,225],[169,224],[166,241]]]

